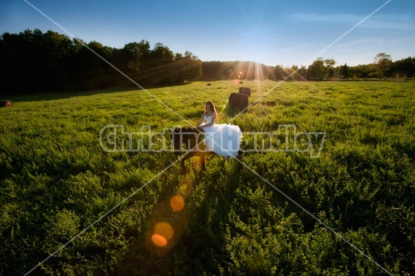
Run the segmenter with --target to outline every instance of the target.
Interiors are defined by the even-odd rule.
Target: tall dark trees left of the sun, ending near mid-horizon
[[[0,60],[2,94],[124,88],[133,82],[169,86],[201,77],[201,60],[189,51],[173,53],[161,43],[151,48],[146,40],[111,48],[51,30],[3,33]]]

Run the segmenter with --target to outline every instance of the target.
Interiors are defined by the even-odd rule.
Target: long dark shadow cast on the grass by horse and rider
[[[219,273],[219,265],[223,265],[224,259],[228,259],[225,250],[225,227],[235,190],[240,185],[238,174],[242,165],[235,160],[224,160],[220,156],[213,160],[212,157],[209,158],[211,162],[208,162],[211,167],[207,164],[206,171],[201,170],[200,164],[197,164],[199,160],[192,160],[194,168],[186,176],[179,176],[183,179],[178,192],[154,208],[153,214],[145,223],[145,229],[143,228],[140,236],[120,260],[119,275]],[[226,165],[230,172],[226,172],[225,163],[228,163]],[[185,199],[185,206],[180,211],[182,214],[173,211],[169,216],[170,211],[160,211],[165,210],[166,203],[172,201],[176,194],[181,194]],[[163,216],[164,219],[161,219]],[[149,239],[149,233],[154,232],[155,221],[172,223],[175,230],[181,228],[178,230],[178,239],[173,241],[172,246],[167,244],[167,247],[170,246],[167,250],[154,245],[149,250],[149,241],[155,241]],[[181,222],[180,227],[174,225],[177,221]],[[174,235],[172,239],[175,239]]]

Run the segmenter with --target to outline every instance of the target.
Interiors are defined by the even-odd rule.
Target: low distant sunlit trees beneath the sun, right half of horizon
[[[284,67],[265,66],[255,62],[203,62],[202,79],[229,80],[365,80],[365,79],[399,79],[415,78],[415,57],[407,57],[392,62],[391,56],[378,53],[374,63],[358,66],[347,64],[335,66],[335,59],[318,58],[306,66]]]

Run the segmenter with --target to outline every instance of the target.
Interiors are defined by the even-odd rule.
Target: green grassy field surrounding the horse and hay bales
[[[232,81],[2,99],[15,107],[0,109],[0,274],[53,255],[30,275],[387,275],[289,196],[390,273],[415,275],[415,82],[243,86],[259,101],[233,119]],[[100,145],[106,125],[196,125],[206,100],[246,133],[325,133],[322,151],[210,156],[205,172],[192,158],[183,175],[172,152]]]

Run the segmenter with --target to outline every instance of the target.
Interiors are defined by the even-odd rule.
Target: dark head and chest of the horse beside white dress
[[[204,147],[203,145],[203,130],[196,127],[176,127],[175,129],[169,129],[172,134],[172,143],[174,145],[174,154],[180,155],[185,144],[186,149],[196,150],[196,145]]]

